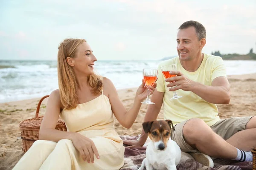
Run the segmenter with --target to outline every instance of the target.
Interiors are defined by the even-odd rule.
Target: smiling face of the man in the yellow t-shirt
[[[195,27],[180,29],[177,33],[177,51],[180,60],[191,61],[201,55],[201,42],[196,35]]]

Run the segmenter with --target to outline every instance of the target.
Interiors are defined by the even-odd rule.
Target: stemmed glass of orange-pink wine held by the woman
[[[157,79],[157,69],[152,69],[152,68],[143,68],[143,78],[144,82],[148,88],[148,86],[154,85],[154,82]],[[147,98],[142,102],[144,104],[154,104],[154,102],[151,102],[149,99],[150,91],[149,88],[147,89]]]

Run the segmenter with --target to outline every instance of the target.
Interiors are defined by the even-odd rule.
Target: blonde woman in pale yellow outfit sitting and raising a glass
[[[97,59],[86,40],[66,39],[58,47],[58,85],[48,99],[39,139],[13,170],[118,170],[124,164],[123,141],[113,114],[130,128],[147,96],[144,82],[129,111],[112,82],[94,74]],[[156,84],[150,87],[151,94]],[[58,116],[67,132],[55,130]]]

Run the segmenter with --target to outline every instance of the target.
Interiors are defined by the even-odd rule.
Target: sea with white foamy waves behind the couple
[[[97,61],[94,70],[111,79],[116,89],[136,88],[143,68],[157,68],[154,61]],[[256,61],[224,60],[227,75],[256,73]],[[0,60],[0,103],[32,99],[58,88],[57,61]]]

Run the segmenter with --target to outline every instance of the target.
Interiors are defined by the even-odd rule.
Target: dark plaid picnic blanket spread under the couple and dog
[[[139,136],[120,136],[123,140],[136,140]],[[141,148],[127,148],[125,147],[125,164],[120,170],[137,170],[146,157],[146,147]],[[183,153],[181,163],[177,165],[177,170],[252,170],[253,165],[251,161],[233,161],[227,159],[215,159],[214,167],[210,168],[191,159],[188,153]],[[146,168],[144,168],[146,170]]]

